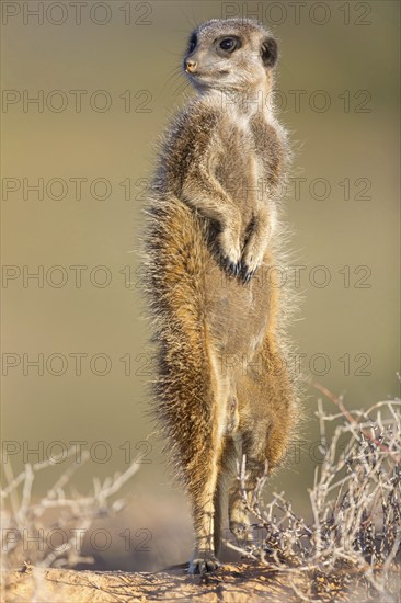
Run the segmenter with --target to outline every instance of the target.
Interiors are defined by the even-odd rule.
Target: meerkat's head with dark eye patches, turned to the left
[[[249,91],[270,84],[277,43],[250,19],[211,19],[192,33],[184,70],[196,89]]]

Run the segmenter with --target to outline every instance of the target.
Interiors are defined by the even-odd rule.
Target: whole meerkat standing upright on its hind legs
[[[290,157],[272,106],[277,43],[248,19],[192,33],[183,69],[196,95],[160,145],[146,207],[146,291],[158,375],[154,409],[186,487],[195,532],[191,573],[218,566],[229,526],[251,541],[245,496],[284,457],[297,424],[286,362],[279,197]]]

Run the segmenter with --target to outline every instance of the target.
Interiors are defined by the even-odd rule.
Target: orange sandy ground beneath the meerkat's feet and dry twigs
[[[356,578],[356,577],[354,577]],[[260,564],[225,565],[215,574],[191,577],[184,568],[167,572],[75,571],[37,569],[9,571],[3,583],[4,603],[87,602],[259,602],[379,601],[397,599],[369,594],[357,580],[274,571]]]

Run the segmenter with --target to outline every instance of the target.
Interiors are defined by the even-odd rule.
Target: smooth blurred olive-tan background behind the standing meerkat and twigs
[[[45,2],[43,23],[23,4],[39,3],[2,7],[2,437],[15,443],[13,470],[24,446],[44,446],[46,457],[55,441],[104,441],[110,458],[93,448],[98,460],[77,474],[81,491],[93,475],[124,470],[128,447],[150,460],[135,492],[172,491],[146,417],[152,367],[133,250],[152,145],[192,93],[174,73],[191,30],[210,18],[255,15],[279,41],[279,118],[295,144],[293,177],[302,179],[286,202],[296,264],[306,266],[290,328],[302,371],[348,408],[397,396],[400,4],[88,1],[78,18],[65,1],[65,10]],[[27,102],[35,96],[39,104]],[[42,198],[28,189],[38,179]],[[71,179],[85,179],[81,195]],[[26,280],[38,271],[43,286]],[[41,375],[27,364],[38,354]],[[81,374],[73,354],[87,354]],[[309,389],[300,459],[272,485],[299,507],[314,467],[316,399]],[[148,436],[151,450],[140,444]]]

